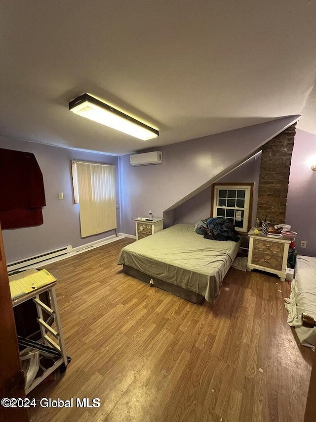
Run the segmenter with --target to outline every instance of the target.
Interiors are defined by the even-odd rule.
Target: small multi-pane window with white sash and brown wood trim
[[[253,183],[213,185],[211,215],[231,221],[239,233],[248,233],[252,194]]]

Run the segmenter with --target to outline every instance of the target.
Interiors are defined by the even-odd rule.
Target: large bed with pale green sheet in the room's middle
[[[213,302],[241,244],[204,239],[194,225],[176,224],[125,246],[124,273],[193,303]]]

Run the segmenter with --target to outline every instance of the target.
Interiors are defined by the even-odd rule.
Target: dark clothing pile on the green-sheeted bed
[[[204,236],[205,239],[233,240],[234,242],[239,240],[234,224],[220,217],[199,220],[194,230],[197,234]]]

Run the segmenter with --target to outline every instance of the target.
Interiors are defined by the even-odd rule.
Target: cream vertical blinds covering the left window
[[[72,170],[81,237],[116,229],[115,166],[73,160]]]

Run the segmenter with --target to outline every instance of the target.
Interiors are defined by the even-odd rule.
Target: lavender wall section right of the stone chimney
[[[316,256],[316,135],[296,130],[287,194],[286,223],[297,232],[299,255]],[[307,241],[306,249],[300,247]]]

